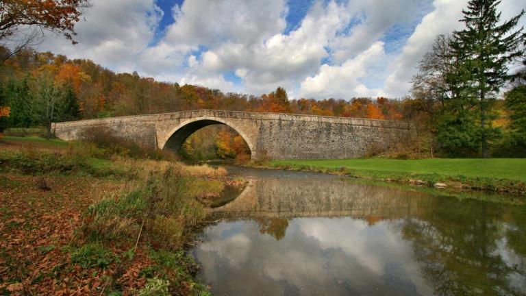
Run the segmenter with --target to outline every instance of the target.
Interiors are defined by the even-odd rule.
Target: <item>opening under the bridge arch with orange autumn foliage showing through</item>
[[[214,119],[195,119],[181,123],[168,134],[162,149],[190,160],[250,160],[253,157],[251,142],[242,131],[229,123]],[[215,157],[211,157],[212,155]]]

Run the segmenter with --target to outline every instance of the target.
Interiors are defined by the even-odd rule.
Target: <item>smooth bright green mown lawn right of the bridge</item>
[[[385,158],[349,160],[274,160],[272,165],[339,169],[377,173],[438,174],[444,176],[490,177],[526,182],[526,158],[393,160]]]

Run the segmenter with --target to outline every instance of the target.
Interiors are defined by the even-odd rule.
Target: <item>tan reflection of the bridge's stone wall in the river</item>
[[[251,180],[229,204],[214,209],[218,218],[353,217],[399,219],[418,216],[429,195],[417,191],[357,184],[337,177]]]

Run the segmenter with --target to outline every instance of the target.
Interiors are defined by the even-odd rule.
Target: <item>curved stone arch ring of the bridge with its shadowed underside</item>
[[[194,119],[188,119],[186,121],[183,121],[179,123],[176,127],[174,127],[168,134],[166,134],[166,137],[164,137],[162,140],[158,142],[158,147],[160,149],[174,149],[175,151],[179,151],[181,149],[181,146],[183,145],[184,141],[194,132],[197,132],[197,130],[200,130],[203,127],[206,127],[208,125],[215,125],[215,124],[222,124],[227,125],[231,127],[232,130],[236,131],[240,136],[245,140],[245,143],[249,146],[251,158],[254,158],[255,156],[255,147],[249,138],[247,134],[241,130],[238,126],[236,126],[235,123],[231,123],[230,121],[227,121],[225,119],[219,119],[217,117],[211,117],[211,116],[201,116]]]

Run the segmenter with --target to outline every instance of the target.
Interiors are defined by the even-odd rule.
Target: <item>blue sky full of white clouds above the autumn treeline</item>
[[[401,97],[467,0],[92,0],[78,45],[39,50],[179,84],[290,97]],[[503,17],[526,6],[503,0]],[[521,25],[525,25],[525,18]]]

